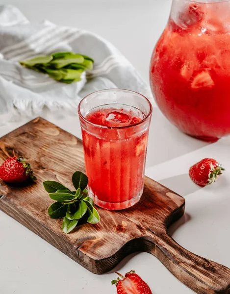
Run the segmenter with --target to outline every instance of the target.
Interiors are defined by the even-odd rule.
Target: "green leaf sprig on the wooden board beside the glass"
[[[87,175],[79,171],[74,172],[72,182],[76,191],[71,191],[55,181],[43,182],[50,198],[56,200],[48,208],[48,214],[52,219],[63,218],[62,230],[67,234],[77,226],[80,219],[89,223],[100,221],[99,213],[94,207],[94,201],[88,196],[86,189],[88,185]]]

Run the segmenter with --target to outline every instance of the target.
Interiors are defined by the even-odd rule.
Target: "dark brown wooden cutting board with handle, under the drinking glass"
[[[43,181],[72,186],[72,173],[84,172],[81,140],[37,118],[0,138],[0,164],[15,155],[29,160],[37,181],[27,187],[0,181],[0,209],[86,269],[104,273],[128,254],[145,251],[196,293],[230,293],[230,269],[187,251],[168,235],[167,228],[184,213],[181,196],[146,177],[143,196],[135,206],[117,212],[99,208],[100,223],[65,234],[62,221],[47,213],[53,201]]]

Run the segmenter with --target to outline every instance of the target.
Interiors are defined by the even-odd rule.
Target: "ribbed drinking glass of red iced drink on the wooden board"
[[[112,103],[103,104],[105,97]],[[128,208],[143,193],[152,106],[128,90],[103,90],[84,99],[78,112],[90,196],[108,210]]]

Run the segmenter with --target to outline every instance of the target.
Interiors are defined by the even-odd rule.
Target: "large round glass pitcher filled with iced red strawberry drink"
[[[173,0],[150,65],[162,113],[203,140],[230,134],[230,1]]]

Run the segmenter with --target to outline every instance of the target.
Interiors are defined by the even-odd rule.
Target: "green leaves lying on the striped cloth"
[[[53,79],[70,84],[81,80],[81,73],[92,70],[94,60],[74,52],[56,52],[20,61],[22,66],[40,73],[48,73]]]

